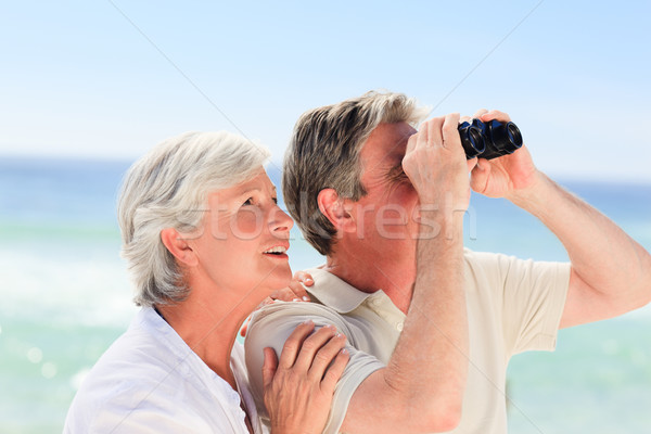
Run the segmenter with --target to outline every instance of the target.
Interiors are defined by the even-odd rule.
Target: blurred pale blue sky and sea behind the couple
[[[537,166],[651,250],[651,3],[26,1],[0,7],[0,432],[61,432],[136,312],[115,200],[188,130],[281,159],[304,111],[387,89],[434,115],[508,112]],[[534,218],[473,195],[465,244],[565,260]],[[294,270],[322,258],[295,231]],[[651,309],[516,356],[510,432],[651,429]]]

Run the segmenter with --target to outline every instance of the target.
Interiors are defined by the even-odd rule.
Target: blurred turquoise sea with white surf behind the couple
[[[93,363],[137,311],[115,202],[130,162],[0,157],[0,433],[60,433]],[[279,184],[276,165],[268,167]],[[560,180],[651,250],[651,184]],[[535,218],[473,194],[464,243],[566,260]],[[323,263],[292,232],[290,263]],[[651,282],[649,282],[651,284]],[[510,433],[651,433],[651,307],[562,330],[515,356]]]

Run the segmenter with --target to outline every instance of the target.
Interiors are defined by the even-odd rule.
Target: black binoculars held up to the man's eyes
[[[513,123],[502,124],[497,120],[483,123],[480,119],[472,119],[472,123],[459,124],[458,129],[468,159],[497,158],[512,154],[522,146],[522,135]]]

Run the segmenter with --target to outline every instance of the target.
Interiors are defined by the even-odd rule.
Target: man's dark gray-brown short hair
[[[361,199],[367,192],[359,153],[371,132],[383,123],[416,126],[425,116],[414,99],[376,91],[301,116],[284,157],[282,192],[288,210],[319,253],[332,253],[336,234],[319,210],[319,192],[331,188],[341,197]]]

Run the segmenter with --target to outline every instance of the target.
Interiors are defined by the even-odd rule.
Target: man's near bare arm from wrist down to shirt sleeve
[[[433,433],[450,431],[459,423],[469,337],[462,214],[455,214],[452,226],[431,220],[441,228],[435,238],[421,233],[405,329],[387,367],[355,392],[343,431]]]

